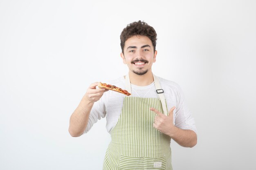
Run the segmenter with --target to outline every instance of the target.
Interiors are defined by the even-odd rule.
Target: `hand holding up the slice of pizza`
[[[108,91],[105,88],[96,88],[99,82],[92,83],[87,89],[83,98],[90,102],[97,102],[103,95],[104,92]]]

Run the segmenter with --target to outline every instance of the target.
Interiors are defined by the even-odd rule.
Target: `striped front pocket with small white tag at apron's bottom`
[[[119,170],[166,170],[166,157],[128,157],[120,155]]]

